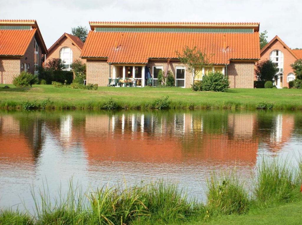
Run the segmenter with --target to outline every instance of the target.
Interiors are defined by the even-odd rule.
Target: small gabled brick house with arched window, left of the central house
[[[79,37],[71,34],[64,33],[49,49],[46,55],[46,63],[52,58],[60,58],[64,61],[66,70],[71,70],[71,64],[74,60],[82,60],[86,63],[85,59],[80,57],[84,43]]]

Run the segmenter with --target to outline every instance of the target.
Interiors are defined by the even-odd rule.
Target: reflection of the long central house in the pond
[[[86,116],[83,141],[91,160],[255,164],[257,115],[228,113],[222,117],[194,112]],[[214,126],[214,120],[220,124]]]

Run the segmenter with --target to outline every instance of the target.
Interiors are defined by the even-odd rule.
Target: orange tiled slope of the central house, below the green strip
[[[115,48],[117,46],[117,49]],[[231,59],[259,59],[259,32],[100,32],[90,31],[82,57],[108,58],[108,63],[147,63],[150,58],[177,58],[183,47],[197,46],[213,64]]]

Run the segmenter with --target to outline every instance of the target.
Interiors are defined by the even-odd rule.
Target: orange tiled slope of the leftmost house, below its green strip
[[[0,55],[23,56],[37,29],[0,30]]]

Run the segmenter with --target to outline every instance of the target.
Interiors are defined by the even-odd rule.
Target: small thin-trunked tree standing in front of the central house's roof
[[[194,84],[195,77],[202,67],[209,67],[211,64],[207,58],[207,54],[201,52],[197,47],[192,49],[186,46],[183,48],[183,54],[176,51],[176,54],[182,64],[185,64],[188,71],[192,73],[192,84]]]

